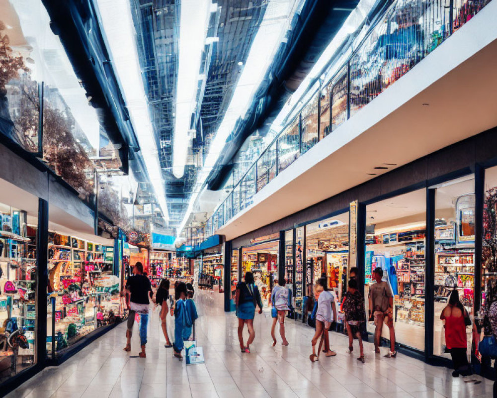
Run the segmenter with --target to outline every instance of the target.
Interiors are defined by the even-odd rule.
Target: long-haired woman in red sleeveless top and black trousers
[[[466,351],[468,340],[466,338],[466,326],[471,325],[468,312],[459,301],[459,293],[454,289],[449,296],[448,305],[442,310],[440,319],[445,320],[445,344],[450,351],[452,362],[454,363],[453,377],[472,375],[471,367],[468,363]]]

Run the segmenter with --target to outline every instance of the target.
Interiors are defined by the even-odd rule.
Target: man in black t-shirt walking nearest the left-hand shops
[[[145,345],[147,344],[147,322],[149,320],[149,296],[153,297],[152,285],[150,279],[143,274],[143,265],[137,262],[134,265],[134,275],[126,281],[125,289],[130,294],[129,299],[129,314],[128,314],[128,329],[126,330],[126,347],[124,351],[131,351],[131,335],[133,332],[133,324],[135,323],[135,315],[140,314],[140,344],[142,351],[138,354],[140,358],[146,358]]]

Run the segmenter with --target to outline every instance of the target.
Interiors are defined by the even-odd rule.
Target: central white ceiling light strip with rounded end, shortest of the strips
[[[183,177],[190,141],[191,114],[195,111],[200,63],[206,42],[210,0],[181,0],[178,77],[172,142],[172,174]]]

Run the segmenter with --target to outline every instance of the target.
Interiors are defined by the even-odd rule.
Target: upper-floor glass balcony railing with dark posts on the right
[[[490,1],[395,1],[366,35],[356,38],[351,45],[355,50],[347,61],[310,97],[248,171],[242,174],[237,169],[233,192],[218,207],[224,211],[223,222],[252,204],[253,196],[278,173],[408,73]],[[211,218],[219,219],[217,211]]]

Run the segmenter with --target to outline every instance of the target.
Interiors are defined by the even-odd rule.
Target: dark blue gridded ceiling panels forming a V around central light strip
[[[185,214],[199,168],[219,127],[245,63],[267,1],[219,0],[208,34],[214,42],[205,82],[196,135],[188,151],[182,178],[172,174],[174,98],[178,68],[177,0],[130,0],[137,47],[150,114],[160,147],[169,225],[178,226]]]

